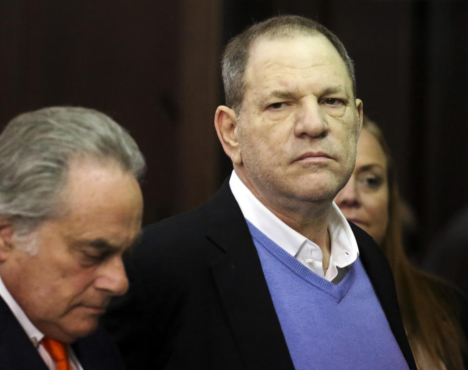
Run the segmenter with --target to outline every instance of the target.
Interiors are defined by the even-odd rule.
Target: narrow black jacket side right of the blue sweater
[[[374,287],[375,294],[379,298],[380,305],[387,316],[390,329],[408,362],[409,369],[416,370],[416,364],[409,347],[398,307],[395,282],[387,259],[379,246],[367,233],[351,222],[350,225],[359,247],[359,257]],[[382,269],[382,266],[387,266],[388,268]]]

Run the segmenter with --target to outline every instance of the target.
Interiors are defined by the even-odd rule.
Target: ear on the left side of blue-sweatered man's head
[[[220,105],[215,113],[215,129],[224,152],[231,158],[233,164],[242,164],[242,155],[237,140],[237,117],[234,110]]]

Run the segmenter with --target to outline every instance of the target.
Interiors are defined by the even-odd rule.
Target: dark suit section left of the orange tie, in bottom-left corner
[[[20,323],[0,298],[0,369],[48,370]]]

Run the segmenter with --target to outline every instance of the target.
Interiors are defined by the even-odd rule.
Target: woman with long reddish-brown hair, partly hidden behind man
[[[356,166],[335,203],[349,221],[382,246],[395,277],[400,311],[418,369],[465,369],[465,297],[409,262],[403,249],[402,202],[390,150],[381,129],[367,117],[358,141]]]

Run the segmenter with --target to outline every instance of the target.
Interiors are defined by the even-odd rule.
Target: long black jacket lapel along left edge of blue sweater
[[[227,181],[207,204],[207,237],[224,252],[212,271],[246,368],[293,370],[252,236]]]

